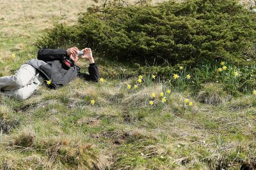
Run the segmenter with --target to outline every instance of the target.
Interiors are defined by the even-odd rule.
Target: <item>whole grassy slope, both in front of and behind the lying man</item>
[[[35,57],[32,45],[42,30],[76,22],[77,11],[87,4],[70,2],[1,2],[0,76]],[[77,78],[58,90],[42,87],[26,101],[0,96],[0,169],[255,166],[253,96],[211,106],[172,89],[168,104],[150,108],[149,96],[159,95],[162,83],[127,90],[131,81],[96,84]],[[183,108],[186,97],[193,100],[191,109]]]

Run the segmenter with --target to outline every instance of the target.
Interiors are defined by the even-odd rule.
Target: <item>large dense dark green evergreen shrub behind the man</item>
[[[115,3],[114,3],[115,4]],[[255,13],[234,0],[169,1],[90,10],[77,25],[56,25],[39,46],[89,46],[109,59],[148,64],[253,59]]]

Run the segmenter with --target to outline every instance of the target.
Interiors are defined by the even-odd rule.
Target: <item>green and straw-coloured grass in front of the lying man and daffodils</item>
[[[252,155],[256,108],[250,100],[252,95],[220,106],[193,101],[190,109],[177,113],[176,108],[183,107],[186,97],[183,93],[172,92],[172,102],[153,108],[141,100],[145,93],[149,96],[152,89],[159,95],[162,90],[159,83],[141,86],[133,92],[122,89],[126,87],[124,81],[106,80],[105,84],[89,82],[81,86],[83,83],[77,78],[58,90],[44,87],[40,94],[22,102],[1,96],[1,113],[6,114],[4,108],[8,108],[15,115],[5,117],[19,118],[19,125],[9,134],[3,134],[1,147],[4,149],[0,158],[10,157],[5,163],[11,167],[20,167],[26,160],[31,162],[24,167],[47,165],[75,169],[79,164],[87,164],[86,161],[111,169],[213,169],[218,166],[236,169],[255,161]],[[94,105],[90,104],[92,97],[89,96],[95,99]],[[116,96],[121,97],[120,101],[116,101]],[[234,111],[236,104],[240,108]],[[92,145],[90,155],[86,155],[86,160],[79,160],[81,162],[74,159],[77,155],[67,152],[78,154],[75,139],[77,143]],[[221,139],[221,145],[216,143]],[[68,145],[63,146],[61,142]],[[58,155],[51,159],[52,153],[47,150],[53,146],[59,149]],[[241,146],[243,152],[237,150]],[[41,162],[40,166],[35,158],[45,164]],[[220,159],[223,165],[219,165]]]

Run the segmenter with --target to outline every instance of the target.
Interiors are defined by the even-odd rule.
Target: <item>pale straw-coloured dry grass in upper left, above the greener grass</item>
[[[0,30],[4,36],[32,37],[56,22],[73,24],[79,13],[92,4],[90,0],[1,0]]]

